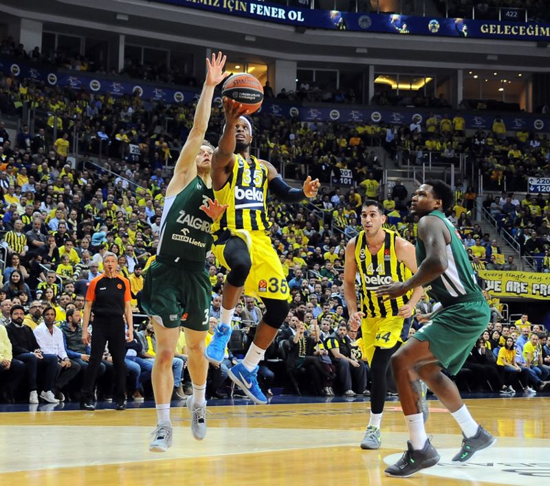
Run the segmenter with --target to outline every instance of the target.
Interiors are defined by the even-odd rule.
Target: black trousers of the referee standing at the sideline
[[[109,353],[113,358],[115,372],[114,398],[115,403],[119,403],[126,398],[124,395],[124,389],[126,388],[126,364],[124,364],[126,332],[124,329],[124,320],[122,320],[122,317],[102,318],[96,316],[92,327],[91,352],[84,375],[82,398],[84,401],[94,401],[96,378],[101,366],[105,345],[109,342]]]

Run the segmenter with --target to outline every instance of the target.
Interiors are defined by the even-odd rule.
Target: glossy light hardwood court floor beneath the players
[[[340,401],[212,406],[208,435],[194,441],[186,408],[173,408],[174,445],[148,452],[154,408],[124,412],[0,413],[0,485],[437,485],[550,484],[550,397],[470,399],[498,437],[472,463],[449,463],[461,443],[439,401],[428,433],[441,461],[412,478],[384,476],[405,448],[399,402],[388,402],[382,448],[359,448],[369,404]]]

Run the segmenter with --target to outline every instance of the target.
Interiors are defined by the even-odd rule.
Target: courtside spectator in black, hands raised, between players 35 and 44
[[[328,373],[322,367],[319,360],[320,351],[316,351],[315,346],[318,343],[318,327],[314,337],[305,335],[305,325],[298,322],[297,332],[294,338],[290,340],[290,351],[287,356],[287,369],[289,373],[294,373],[299,368],[307,371],[307,377],[313,384],[316,395],[329,395],[326,387],[323,387],[323,381],[327,379]]]

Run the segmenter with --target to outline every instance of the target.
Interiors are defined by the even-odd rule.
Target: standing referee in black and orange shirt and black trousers
[[[126,384],[126,365],[124,355],[125,341],[133,340],[132,308],[130,305],[130,282],[116,272],[116,255],[106,252],[103,255],[104,274],[91,280],[86,294],[84,306],[82,340],[84,344],[90,341],[88,324],[91,313],[94,313],[93,333],[91,335],[91,353],[88,367],[84,375],[82,401],[80,408],[94,410],[94,388],[96,376],[105,351],[105,344],[109,342],[109,352],[113,357],[115,371],[115,404],[116,410],[124,410]],[[127,333],[124,331],[124,316],[128,324]]]

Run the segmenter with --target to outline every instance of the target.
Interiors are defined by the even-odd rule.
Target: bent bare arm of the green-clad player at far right
[[[420,265],[418,272],[406,282],[381,285],[375,290],[377,297],[397,298],[404,296],[410,289],[423,287],[439,277],[448,266],[445,247],[445,234],[449,230],[441,219],[425,216],[418,223],[418,237],[426,247],[426,260]]]

